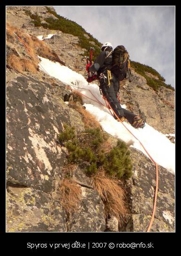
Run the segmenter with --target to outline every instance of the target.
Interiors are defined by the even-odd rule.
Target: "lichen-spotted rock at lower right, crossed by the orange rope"
[[[133,176],[128,181],[127,192],[131,217],[120,231],[146,231],[153,208],[155,191],[155,166],[136,149],[130,148]],[[151,232],[174,232],[174,176],[165,168],[158,167],[158,198]]]

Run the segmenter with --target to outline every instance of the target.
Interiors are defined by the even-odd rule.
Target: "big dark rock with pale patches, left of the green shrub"
[[[18,76],[7,87],[8,182],[51,192],[53,177],[64,165],[65,153],[57,144],[63,122],[84,127],[51,86],[30,76]]]

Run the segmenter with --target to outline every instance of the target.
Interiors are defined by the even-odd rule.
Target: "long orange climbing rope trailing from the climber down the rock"
[[[16,35],[16,34],[15,34],[15,35]],[[17,35],[16,35],[16,36],[17,36]],[[25,47],[28,51],[30,51],[29,47],[26,46],[26,44],[23,42],[23,40],[22,40],[19,36],[17,36],[17,37],[18,37],[18,39],[20,40],[20,42],[23,43],[24,47]],[[91,57],[92,57],[92,54],[91,54]],[[37,58],[37,59],[38,59],[38,58]],[[42,67],[42,68],[43,68],[43,67]],[[44,68],[43,68],[43,70],[45,71]],[[47,73],[47,72],[45,71],[45,73]],[[47,73],[47,74],[48,74],[48,73]],[[48,75],[49,75],[49,74],[48,74]],[[70,87],[69,84],[67,84],[67,85]],[[146,154],[149,156],[149,158],[150,158],[150,160],[152,161],[152,163],[155,165],[155,169],[156,169],[155,197],[154,197],[154,203],[153,203],[153,210],[152,210],[152,214],[151,214],[151,220],[150,220],[149,226],[148,226],[147,231],[146,231],[146,232],[150,232],[151,226],[152,226],[152,224],[153,224],[154,216],[155,216],[156,204],[157,204],[157,195],[158,195],[158,164],[157,164],[157,162],[155,162],[155,161],[153,160],[153,158],[151,157],[151,155],[149,154],[149,152],[146,150],[146,148],[144,147],[144,145],[142,144],[142,142],[125,126],[125,124],[123,123],[123,120],[122,120],[120,117],[118,117],[118,115],[113,111],[113,108],[111,107],[111,105],[109,104],[109,102],[107,101],[107,99],[106,99],[105,96],[103,96],[103,99],[105,100],[106,106],[105,106],[104,104],[102,104],[102,103],[96,98],[96,96],[94,96],[94,94],[91,92],[90,89],[88,89],[88,88],[79,88],[79,87],[76,87],[76,86],[74,86],[74,85],[71,85],[71,86],[76,88],[76,89],[70,88],[72,91],[77,91],[77,89],[84,89],[84,90],[90,91],[91,95],[92,95],[96,100],[91,99],[90,97],[84,95],[84,94],[81,93],[81,92],[79,92],[79,93],[80,93],[82,96],[84,96],[84,97],[86,97],[86,98],[88,98],[88,99],[91,99],[92,101],[97,102],[98,104],[100,104],[100,105],[106,107],[106,108],[109,110],[109,112],[111,113],[111,115],[112,115],[113,117],[115,116],[115,117],[117,118],[117,120],[119,120],[119,121],[121,122],[121,124],[124,126],[124,128],[126,128],[126,129],[128,130],[128,132],[140,143],[140,145],[143,147],[143,150],[146,152]]]

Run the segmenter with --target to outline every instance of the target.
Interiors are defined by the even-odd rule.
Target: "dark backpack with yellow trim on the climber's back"
[[[111,72],[120,81],[129,78],[129,82],[131,82],[129,55],[126,48],[123,45],[119,45],[113,50],[113,63]]]

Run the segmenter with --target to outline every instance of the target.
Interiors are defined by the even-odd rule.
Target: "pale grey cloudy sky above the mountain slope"
[[[53,6],[101,43],[124,45],[130,59],[156,69],[175,87],[173,6]]]

